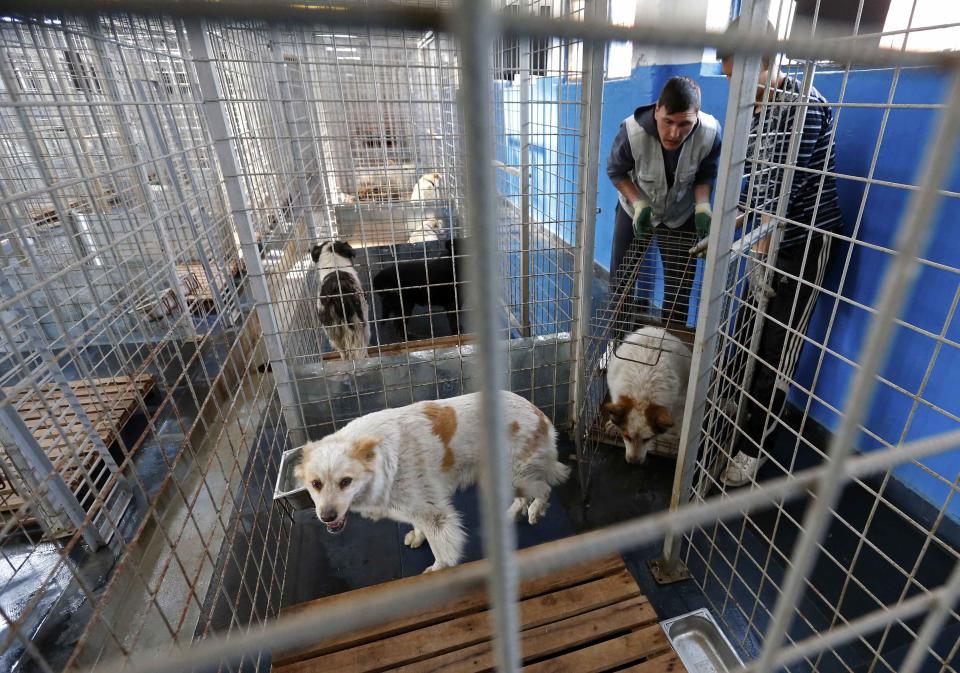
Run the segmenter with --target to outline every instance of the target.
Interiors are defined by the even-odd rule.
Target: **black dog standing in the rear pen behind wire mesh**
[[[401,320],[404,340],[407,322],[417,306],[443,308],[450,333],[460,333],[459,313],[466,283],[459,260],[467,245],[463,239],[456,239],[447,240],[445,247],[447,254],[443,257],[396,262],[373,277],[374,294],[383,306],[381,317]]]

